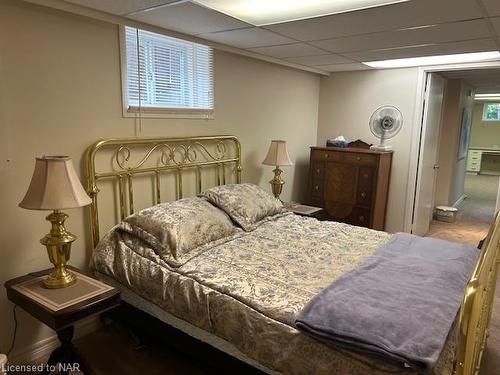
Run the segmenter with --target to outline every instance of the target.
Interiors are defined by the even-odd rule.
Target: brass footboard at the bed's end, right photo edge
[[[467,283],[460,309],[457,349],[453,372],[478,374],[484,356],[491,319],[498,263],[500,262],[500,214],[496,215],[474,272]]]

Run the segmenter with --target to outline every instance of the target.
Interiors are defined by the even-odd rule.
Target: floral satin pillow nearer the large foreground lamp
[[[206,199],[161,203],[127,217],[120,229],[144,240],[169,265],[178,267],[236,234],[231,219]]]

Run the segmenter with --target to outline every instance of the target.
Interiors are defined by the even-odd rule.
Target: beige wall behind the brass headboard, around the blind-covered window
[[[79,168],[85,148],[98,138],[134,136],[122,117],[118,28],[115,25],[0,0],[0,127],[10,162],[0,167],[2,208],[0,283],[48,266],[39,239],[46,212],[17,203],[32,174],[34,157],[68,154]],[[294,167],[285,169],[283,199],[301,200],[309,146],[317,139],[318,76],[229,53],[215,55],[216,119],[146,119],[141,136],[235,134],[243,147],[243,179],[269,188],[263,167],[270,140],[288,141]],[[70,210],[68,228],[79,240],[71,264],[84,267],[90,249],[84,209]],[[0,291],[0,347],[12,335],[12,314]],[[52,332],[19,311],[17,351]]]

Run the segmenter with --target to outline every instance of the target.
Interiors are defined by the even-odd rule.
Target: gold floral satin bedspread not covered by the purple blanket
[[[316,293],[354,269],[390,236],[343,223],[280,215],[171,267],[140,239],[115,230],[94,252],[93,267],[272,371],[411,374],[411,369],[326,345],[294,324]],[[452,373],[454,345],[452,332],[435,374]]]

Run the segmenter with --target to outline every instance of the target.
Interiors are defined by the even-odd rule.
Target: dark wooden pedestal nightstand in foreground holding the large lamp
[[[5,283],[10,301],[57,333],[61,345],[50,355],[42,374],[51,373],[58,363],[61,365],[61,374],[67,374],[68,369],[75,369],[71,366],[73,364],[78,364],[84,374],[91,374],[90,367],[71,342],[74,324],[120,304],[120,292],[116,288],[74,267],[68,268],[78,280],[67,288],[47,289],[43,286],[42,280],[52,269],[30,273]]]

